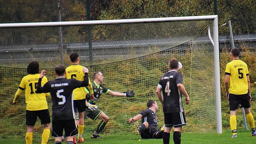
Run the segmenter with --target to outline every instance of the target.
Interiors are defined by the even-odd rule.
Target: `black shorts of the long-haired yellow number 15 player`
[[[37,111],[26,110],[26,125],[34,126],[37,117],[40,119],[41,125],[51,123],[50,113],[48,109]]]

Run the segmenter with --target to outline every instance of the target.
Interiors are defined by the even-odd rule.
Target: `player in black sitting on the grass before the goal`
[[[135,134],[140,136],[142,139],[156,138],[161,139],[163,137],[164,127],[161,131],[157,128],[157,116],[156,112],[158,109],[157,103],[154,100],[147,102],[148,109],[141,111],[138,115],[129,119],[129,123],[136,121],[134,124]],[[139,125],[138,120],[141,118],[141,124]]]

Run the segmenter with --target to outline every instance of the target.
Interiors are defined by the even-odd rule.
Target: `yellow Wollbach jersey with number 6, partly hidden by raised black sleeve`
[[[76,79],[79,81],[84,80],[84,73],[82,72],[83,66],[80,65],[71,65],[66,68],[66,78],[67,79]],[[74,100],[85,99],[85,87],[76,88],[73,91]]]

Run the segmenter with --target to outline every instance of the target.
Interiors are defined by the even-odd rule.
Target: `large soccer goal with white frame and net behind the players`
[[[150,99],[159,105],[158,126],[164,124],[155,91],[171,58],[183,65],[183,84],[191,99],[184,104],[183,130],[222,133],[218,18],[211,15],[0,24],[0,136],[25,133],[25,97],[16,105],[10,101],[29,61],[37,60],[52,80],[57,64],[71,65],[72,52],[89,68],[91,80],[93,72],[101,71],[108,89],[135,91],[131,98],[101,95],[96,105],[110,117],[103,133],[131,133],[129,118],[146,109]],[[48,107],[51,113],[50,98]],[[99,122],[87,118],[84,135]]]

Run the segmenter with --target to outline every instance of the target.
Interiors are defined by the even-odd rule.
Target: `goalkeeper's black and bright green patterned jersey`
[[[94,100],[90,100],[90,92],[88,87],[85,88],[85,91],[87,92],[87,95],[86,95],[87,102],[93,105],[95,105],[96,101],[100,98],[100,95],[102,93],[107,94],[109,92],[109,89],[107,89],[101,84],[97,85],[95,81],[92,83],[92,89],[93,89]]]

